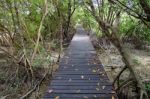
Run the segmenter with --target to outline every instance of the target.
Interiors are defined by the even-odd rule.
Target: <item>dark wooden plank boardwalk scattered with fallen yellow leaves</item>
[[[78,28],[43,99],[117,99],[83,29]]]

